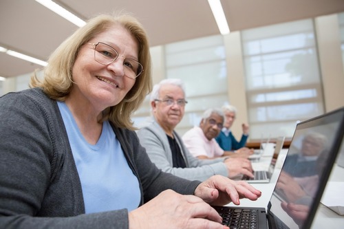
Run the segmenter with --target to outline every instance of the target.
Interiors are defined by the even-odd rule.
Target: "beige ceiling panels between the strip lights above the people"
[[[118,10],[146,28],[151,46],[219,34],[207,0],[55,0],[81,19]],[[230,31],[344,12],[344,0],[222,0]],[[76,30],[34,0],[0,0],[0,46],[46,61]],[[0,76],[33,72],[40,65],[0,52]]]

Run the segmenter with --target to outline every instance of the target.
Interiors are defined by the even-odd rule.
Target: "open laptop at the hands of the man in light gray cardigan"
[[[277,156],[279,155],[279,152],[283,148],[284,140],[285,140],[285,137],[277,138],[274,155],[277,155]],[[274,158],[271,157],[268,171],[261,171],[261,170],[254,171],[253,175],[255,175],[255,177],[244,176],[243,179],[246,180],[246,182],[248,183],[269,183],[272,173],[275,170],[275,162],[276,161],[274,160]]]

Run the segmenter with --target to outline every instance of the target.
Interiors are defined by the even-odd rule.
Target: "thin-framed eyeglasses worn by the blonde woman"
[[[103,42],[89,44],[94,45],[94,59],[102,65],[111,64],[116,61],[119,56],[118,52],[113,47]],[[132,58],[125,58],[123,66],[125,76],[129,78],[136,78],[143,72],[143,66]]]

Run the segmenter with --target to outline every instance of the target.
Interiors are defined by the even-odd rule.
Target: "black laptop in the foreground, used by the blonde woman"
[[[338,154],[341,142],[344,135],[344,107],[325,115],[312,118],[297,124],[294,136],[290,146],[298,144],[297,139],[310,132],[321,133],[327,137],[327,147],[319,155],[317,160],[316,171],[318,173],[317,179],[314,176],[303,177],[303,181],[299,183],[296,177],[291,177],[289,183],[283,184],[283,167],[286,166],[287,160],[292,160],[292,157],[286,157],[283,164],[277,184],[270,197],[270,201],[266,208],[244,208],[231,206],[213,206],[219,215],[222,217],[222,224],[230,228],[259,228],[259,229],[275,229],[275,228],[291,228],[291,229],[308,229],[312,226],[314,215],[319,206],[323,190],[330,177],[336,155]],[[289,151],[294,149],[290,147]],[[288,152],[297,153],[297,152]],[[295,163],[295,168],[300,165]],[[314,183],[314,180],[316,181]],[[294,195],[287,195],[288,192],[296,190],[290,188],[292,182],[298,182],[299,186],[308,186],[312,188],[312,192],[304,193],[297,198]],[[294,186],[293,186],[294,187]],[[306,188],[305,188],[306,189]],[[305,190],[304,189],[304,190]],[[281,197],[279,194],[285,193]],[[292,208],[302,209],[303,211],[293,211]]]

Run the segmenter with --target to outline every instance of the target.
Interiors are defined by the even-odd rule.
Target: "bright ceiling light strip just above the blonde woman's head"
[[[83,27],[86,24],[85,21],[81,20],[80,18],[76,17],[74,14],[66,10],[65,8],[59,6],[58,4],[54,3],[54,1],[50,0],[36,0],[36,2],[41,3],[43,6],[52,10],[56,14],[60,15],[64,19],[74,23],[78,27]]]

